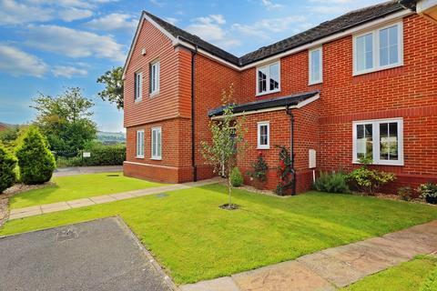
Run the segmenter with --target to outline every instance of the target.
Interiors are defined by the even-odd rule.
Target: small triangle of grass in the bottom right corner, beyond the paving
[[[343,288],[344,291],[431,291],[436,290],[429,285],[432,278],[432,270],[437,270],[437,257],[420,256],[410,262],[399,266],[393,266],[380,273],[367,276],[360,281]],[[435,271],[434,271],[435,273]],[[437,278],[434,278],[437,280]],[[432,288],[425,288],[425,286]]]

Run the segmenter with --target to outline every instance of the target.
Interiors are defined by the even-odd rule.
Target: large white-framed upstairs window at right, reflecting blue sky
[[[353,37],[353,75],[402,65],[402,24]]]

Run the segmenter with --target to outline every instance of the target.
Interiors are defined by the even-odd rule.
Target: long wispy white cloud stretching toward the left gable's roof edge
[[[26,45],[69,57],[95,56],[125,60],[123,45],[112,36],[97,35],[58,25],[29,25]]]

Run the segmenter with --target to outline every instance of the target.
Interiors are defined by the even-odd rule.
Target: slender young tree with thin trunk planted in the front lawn
[[[229,203],[224,208],[235,209],[236,205],[232,204],[232,183],[231,171],[237,164],[237,155],[241,154],[245,148],[244,135],[247,132],[243,127],[244,117],[237,120],[233,115],[234,104],[231,103],[234,90],[232,85],[229,87],[229,93],[223,90],[221,100],[223,104],[223,115],[217,121],[209,122],[209,130],[212,134],[211,142],[202,141],[202,156],[206,163],[214,167],[214,172],[218,173],[225,169],[225,175],[228,181]]]

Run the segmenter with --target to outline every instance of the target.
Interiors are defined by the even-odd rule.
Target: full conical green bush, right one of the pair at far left
[[[48,149],[46,139],[35,127],[30,127],[16,149],[21,181],[27,185],[43,184],[55,170],[55,157]]]

